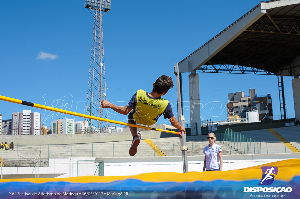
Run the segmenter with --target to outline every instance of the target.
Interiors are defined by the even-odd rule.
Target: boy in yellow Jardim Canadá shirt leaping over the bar
[[[169,76],[162,75],[153,83],[151,93],[143,90],[138,90],[131,98],[126,106],[117,106],[107,100],[101,101],[102,108],[111,108],[114,111],[128,115],[129,124],[144,124],[153,125],[158,118],[163,114],[165,119],[169,119],[172,126],[184,132],[185,129],[179,124],[174,116],[171,104],[168,100],[161,98],[167,94],[170,88],[173,88],[173,80]],[[129,126],[133,141],[129,148],[129,155],[134,156],[137,153],[137,146],[140,144],[140,138],[137,135],[137,128]]]

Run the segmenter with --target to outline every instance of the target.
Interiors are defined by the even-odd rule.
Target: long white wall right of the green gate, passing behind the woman
[[[223,171],[295,159],[298,156],[297,153],[223,155]],[[188,171],[203,171],[204,156],[188,156],[187,160]],[[182,157],[104,159],[104,176],[125,176],[152,172],[183,173]]]

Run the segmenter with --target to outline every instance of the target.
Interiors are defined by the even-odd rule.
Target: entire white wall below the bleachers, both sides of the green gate
[[[297,153],[223,155],[223,171],[298,158]],[[188,156],[188,171],[203,171],[204,156]],[[95,158],[49,159],[49,167],[4,167],[4,178],[77,177],[98,175]],[[104,158],[104,176],[127,176],[152,172],[183,173],[182,157]]]

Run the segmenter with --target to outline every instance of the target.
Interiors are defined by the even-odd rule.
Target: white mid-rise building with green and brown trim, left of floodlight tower
[[[69,118],[51,121],[51,134],[74,134],[74,120]]]

